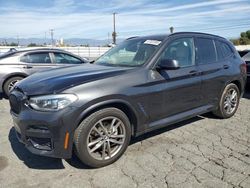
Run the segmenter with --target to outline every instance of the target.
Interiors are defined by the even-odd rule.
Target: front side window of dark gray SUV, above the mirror
[[[180,67],[189,67],[195,64],[193,38],[180,38],[172,41],[162,52],[163,59],[176,60]]]

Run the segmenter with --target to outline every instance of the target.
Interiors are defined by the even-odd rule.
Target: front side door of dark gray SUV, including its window
[[[201,78],[195,65],[193,38],[173,39],[167,44],[157,63],[164,59],[176,60],[180,68],[154,70],[154,77],[158,81],[155,82],[154,79],[155,84],[151,86],[155,90],[155,97],[149,105],[152,109],[152,121],[191,110],[201,104]],[[158,99],[161,101],[154,101]]]

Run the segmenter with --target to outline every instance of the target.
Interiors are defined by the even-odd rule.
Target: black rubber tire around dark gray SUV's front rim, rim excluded
[[[113,156],[111,159],[101,161],[101,160],[94,159],[89,154],[89,151],[87,148],[88,135],[89,135],[89,132],[91,131],[91,129],[93,128],[93,126],[100,119],[108,117],[108,116],[114,116],[116,118],[119,118],[123,122],[124,127],[125,127],[125,131],[126,131],[126,137],[125,137],[125,141],[124,141],[124,144],[123,144],[121,150],[115,156]],[[125,152],[127,146],[129,145],[130,138],[131,138],[130,122],[129,122],[127,116],[122,111],[120,111],[118,109],[108,108],[108,109],[104,109],[104,111],[102,113],[95,113],[93,115],[90,115],[85,120],[83,120],[83,122],[79,125],[79,127],[80,126],[83,126],[83,127],[81,129],[81,132],[78,135],[78,138],[77,138],[77,139],[79,139],[78,145],[76,146],[77,155],[83,163],[85,163],[86,165],[88,165],[90,167],[102,167],[102,166],[106,166],[108,164],[115,162]]]

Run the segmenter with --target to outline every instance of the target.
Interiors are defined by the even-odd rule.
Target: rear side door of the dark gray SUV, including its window
[[[217,49],[220,46],[213,38],[196,37],[195,51],[196,63],[201,72],[202,103],[216,104],[219,100],[222,88],[227,80],[227,69],[230,62],[221,58],[222,52]]]

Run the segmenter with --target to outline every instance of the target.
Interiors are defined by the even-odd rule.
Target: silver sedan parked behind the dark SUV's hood
[[[86,59],[59,49],[12,49],[0,56],[0,93],[9,96],[18,81],[35,72],[86,62]]]

